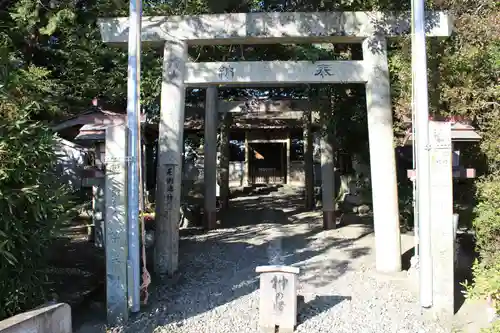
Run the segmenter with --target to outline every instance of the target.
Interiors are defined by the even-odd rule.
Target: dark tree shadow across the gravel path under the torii
[[[279,244],[284,265],[301,268],[301,283],[313,287],[328,285],[351,269],[352,259],[370,252],[369,248],[353,246],[356,240],[373,232],[370,228],[362,229],[355,238],[335,238],[335,234],[323,233],[321,217],[304,214],[303,218],[290,219],[287,207],[291,212],[300,207],[294,204],[299,201],[302,202],[300,196],[293,194],[234,201],[224,227],[206,234],[199,231],[181,234],[178,272],[166,281],[153,281],[156,287],[150,288],[150,305],[139,316],[130,318],[123,332],[150,333],[167,324],[181,327],[184,320],[215,308],[225,311],[224,307],[233,306],[233,301],[259,288],[255,268],[269,264],[272,244]],[[302,233],[284,232],[269,241],[270,232],[286,229],[290,224],[299,227]],[[328,260],[316,258],[332,248],[343,249],[345,255]],[[303,320],[340,301],[340,296],[313,301],[304,309]],[[255,310],[256,302],[255,297],[249,297],[248,302],[234,306],[244,304],[248,310],[242,312],[252,313],[250,308]]]

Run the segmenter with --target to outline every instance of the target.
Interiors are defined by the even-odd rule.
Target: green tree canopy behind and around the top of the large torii
[[[388,0],[145,0],[143,3],[147,15],[408,10],[410,5],[409,1]],[[431,111],[474,120],[483,136],[478,154],[486,157],[484,169],[489,173],[500,170],[498,7],[495,0],[427,1],[428,9],[448,10],[455,17],[451,38],[428,41]],[[21,110],[29,109],[27,117],[32,120],[52,122],[81,112],[96,96],[124,109],[126,48],[103,45],[96,20],[127,14],[128,3],[124,0],[0,0],[0,116],[4,121],[21,114],[25,116]],[[408,36],[392,41],[389,48],[396,134],[405,130],[402,119],[411,113],[410,50]],[[356,59],[360,56],[356,45],[328,48],[281,44],[196,46],[189,53],[196,61]],[[159,109],[161,50],[145,47],[142,57],[141,98],[146,111],[154,118]],[[316,88],[302,85],[294,89],[267,89],[267,93],[306,97]],[[366,140],[364,89],[356,86],[329,89],[321,93],[334,95],[333,124],[338,126],[333,127],[337,129],[339,147],[352,153]],[[225,98],[255,93],[256,90],[250,89],[223,92]],[[201,90],[192,90],[187,98],[196,103],[203,100],[203,95]],[[485,181],[491,182],[491,179],[496,178]],[[486,185],[480,188],[492,191]],[[499,211],[500,208],[493,218],[499,219]],[[485,220],[477,221],[481,224]]]

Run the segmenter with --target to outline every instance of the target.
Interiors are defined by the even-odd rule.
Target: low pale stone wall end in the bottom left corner
[[[0,321],[0,333],[71,332],[71,308],[65,303],[42,306]]]

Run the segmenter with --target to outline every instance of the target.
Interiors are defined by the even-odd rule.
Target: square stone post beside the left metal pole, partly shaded
[[[106,129],[106,306],[109,325],[128,319],[125,125]]]

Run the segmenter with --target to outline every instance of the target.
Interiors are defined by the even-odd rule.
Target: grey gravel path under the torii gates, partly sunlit
[[[403,274],[375,272],[369,223],[323,231],[321,215],[297,213],[296,200],[284,191],[235,200],[230,227],[183,237],[175,283],[156,287],[150,311],[125,331],[258,332],[255,267],[282,263],[301,269],[296,332],[444,332],[420,316]]]

